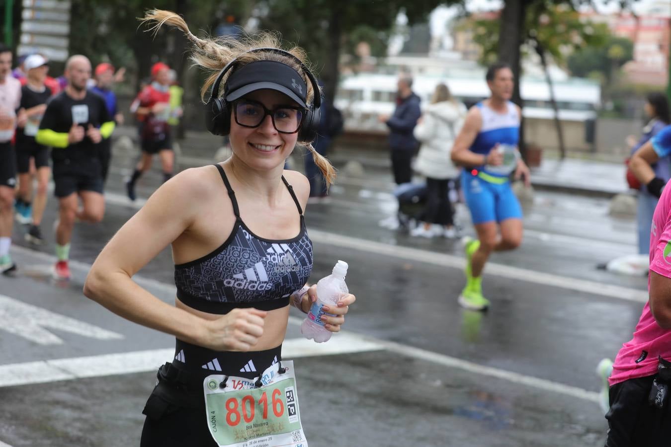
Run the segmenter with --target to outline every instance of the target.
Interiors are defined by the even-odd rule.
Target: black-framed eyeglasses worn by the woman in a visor
[[[242,127],[258,127],[267,115],[270,115],[272,125],[279,133],[296,133],[301,129],[305,116],[305,109],[282,105],[275,109],[266,109],[258,101],[239,99],[234,102],[236,123]]]

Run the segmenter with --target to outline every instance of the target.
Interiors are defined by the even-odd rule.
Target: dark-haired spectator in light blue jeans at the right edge
[[[654,137],[665,126],[671,124],[669,117],[669,105],[666,96],[660,92],[652,92],[646,98],[645,112],[650,117],[650,121],[643,127],[643,134],[637,140],[633,135],[627,137],[627,143],[631,147],[631,155]],[[652,165],[655,176],[668,182],[671,177],[671,160],[668,157],[662,157]],[[638,253],[647,255],[650,248],[650,225],[652,225],[652,215],[657,206],[658,197],[650,194],[645,186],[641,186],[637,191],[636,223],[638,229]]]

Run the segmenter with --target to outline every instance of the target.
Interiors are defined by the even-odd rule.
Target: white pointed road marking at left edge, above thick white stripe
[[[61,338],[45,328],[62,330],[98,340],[123,338],[123,335],[116,332],[0,295],[0,330],[27,338],[38,344],[63,343]]]

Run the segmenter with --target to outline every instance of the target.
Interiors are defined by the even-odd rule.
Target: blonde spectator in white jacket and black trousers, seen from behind
[[[411,231],[413,236],[456,236],[448,185],[458,176],[459,170],[452,164],[450,151],[465,116],[466,107],[452,98],[448,86],[438,84],[431,104],[415,126],[415,138],[421,142],[415,171],[426,177],[428,200],[421,219],[423,225]]]

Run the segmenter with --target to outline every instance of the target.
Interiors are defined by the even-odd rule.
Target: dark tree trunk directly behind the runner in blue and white
[[[523,107],[519,83],[521,80],[520,50],[523,42],[523,22],[527,2],[525,0],[505,0],[503,12],[501,13],[501,27],[499,29],[499,60],[509,64],[515,76],[515,89],[513,90],[513,103],[520,109]],[[519,152],[523,159],[527,158],[526,145],[524,143],[524,119],[519,125]]]

